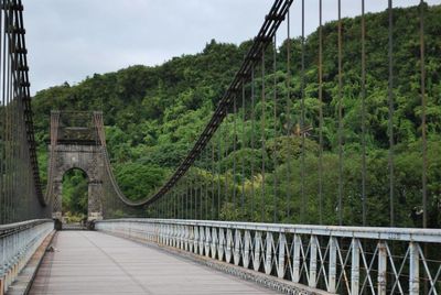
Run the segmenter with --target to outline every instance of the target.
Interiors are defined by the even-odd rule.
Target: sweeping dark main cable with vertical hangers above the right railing
[[[389,0],[370,13],[367,2],[276,1],[191,152],[135,205],[158,218],[439,227],[439,118],[428,112],[439,102],[427,85],[439,36],[424,25],[439,8]],[[344,18],[353,8],[359,17]]]

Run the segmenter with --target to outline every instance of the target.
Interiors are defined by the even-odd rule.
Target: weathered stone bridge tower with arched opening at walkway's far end
[[[103,124],[96,117],[101,112],[52,111],[51,143],[49,145],[47,192],[52,199],[53,218],[62,220],[63,176],[73,168],[82,170],[88,182],[87,220],[103,219],[103,178],[105,146],[99,134]]]

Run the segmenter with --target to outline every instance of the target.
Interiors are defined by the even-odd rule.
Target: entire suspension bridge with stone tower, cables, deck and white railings
[[[23,4],[2,0],[0,295],[439,294],[441,230],[431,216],[441,207],[441,178],[439,163],[429,161],[428,141],[439,139],[433,122],[441,118],[428,109],[441,108],[432,87],[440,81],[440,67],[433,65],[440,48],[428,46],[427,39],[439,39],[440,28],[424,25],[430,12],[424,1],[413,8],[415,19],[406,20],[417,24],[409,48],[413,59],[408,61],[413,76],[404,79],[411,87],[404,88],[412,89],[419,106],[412,161],[420,175],[407,184],[398,176],[404,172],[396,156],[400,136],[394,116],[402,102],[396,59],[402,56],[395,54],[400,32],[394,1],[383,12],[383,43],[375,43],[370,32],[379,29],[366,21],[368,0],[359,1],[352,29],[344,25],[341,1],[334,1],[334,32],[323,29],[327,11],[319,0],[311,12],[319,20],[314,47],[305,42],[304,2],[273,1],[187,155],[154,194],[132,200],[114,176],[106,113],[99,110],[47,114],[42,181]],[[295,39],[292,25],[301,29]],[[358,46],[345,55],[348,35]],[[381,45],[385,62],[373,67],[369,48]],[[324,54],[326,47],[332,56]],[[330,63],[336,73],[329,72]],[[314,65],[313,74],[306,65]],[[378,73],[388,77],[387,103],[372,107],[369,79]],[[336,87],[330,89],[331,83]],[[345,107],[354,100],[361,101],[358,127],[349,134]],[[380,134],[387,153],[384,174],[373,175],[367,122],[378,108],[387,118]],[[325,122],[327,112],[336,114],[333,128]],[[346,148],[351,142],[358,143],[356,151]],[[336,156],[331,159],[330,151]],[[346,162],[357,163],[356,172]],[[63,221],[63,175],[73,168],[87,175],[84,230],[66,230]],[[372,177],[384,178],[383,187],[374,192]],[[417,201],[406,203],[402,195],[409,192],[417,192]],[[400,212],[404,206],[409,216]],[[418,222],[409,227],[411,217]]]

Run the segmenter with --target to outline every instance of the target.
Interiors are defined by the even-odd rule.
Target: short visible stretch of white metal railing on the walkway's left
[[[0,226],[0,294],[8,291],[53,229],[54,222],[51,219]]]

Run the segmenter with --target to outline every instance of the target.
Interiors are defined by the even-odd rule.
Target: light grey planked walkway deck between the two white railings
[[[152,247],[96,231],[58,231],[30,294],[275,294]]]

